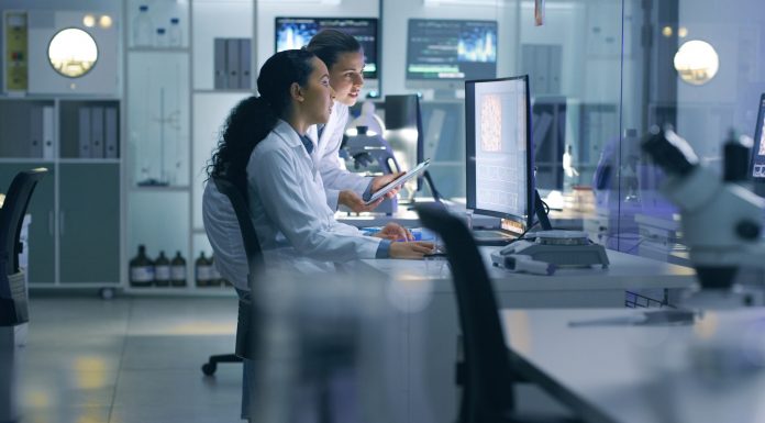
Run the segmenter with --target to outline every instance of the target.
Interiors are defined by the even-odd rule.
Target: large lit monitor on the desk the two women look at
[[[529,77],[465,82],[467,208],[532,224]]]

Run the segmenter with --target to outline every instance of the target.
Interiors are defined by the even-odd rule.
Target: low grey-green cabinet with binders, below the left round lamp
[[[16,172],[46,167],[29,205],[30,287],[120,285],[120,100],[0,98],[0,191]],[[77,116],[91,110],[80,127]],[[103,116],[109,110],[109,122]],[[80,145],[88,140],[88,155]],[[98,140],[96,140],[98,138]],[[107,158],[106,140],[114,146]],[[97,141],[99,154],[90,144]]]

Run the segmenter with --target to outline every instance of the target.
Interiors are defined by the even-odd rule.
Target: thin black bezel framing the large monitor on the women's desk
[[[495,210],[478,209],[476,207],[476,134],[475,130],[475,85],[481,82],[501,82],[509,80],[523,80],[525,85],[525,124],[526,124],[526,215],[519,216],[510,213],[498,212]],[[472,111],[472,112],[470,112]],[[473,210],[476,214],[485,214],[500,219],[507,219],[524,225],[524,230],[531,227],[534,223],[534,144],[531,136],[531,93],[529,89],[529,75],[520,75],[513,77],[494,78],[494,79],[475,79],[465,81],[465,176],[466,176],[466,208]]]

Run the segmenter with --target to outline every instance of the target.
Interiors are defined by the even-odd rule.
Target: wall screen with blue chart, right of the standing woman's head
[[[497,21],[410,19],[407,87],[462,89],[497,76]]]

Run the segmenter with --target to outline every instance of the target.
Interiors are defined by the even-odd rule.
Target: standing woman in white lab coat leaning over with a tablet
[[[340,204],[355,212],[373,210],[382,200],[365,205],[363,199],[367,199],[401,174],[363,177],[342,168],[337,155],[348,122],[348,108],[356,104],[364,86],[364,49],[356,38],[337,30],[319,32],[306,49],[319,56],[326,65],[330,86],[335,93],[330,120],[325,125],[309,130],[309,135],[315,144],[313,157],[324,180],[326,202],[333,210]],[[390,198],[398,190],[386,197]]]

